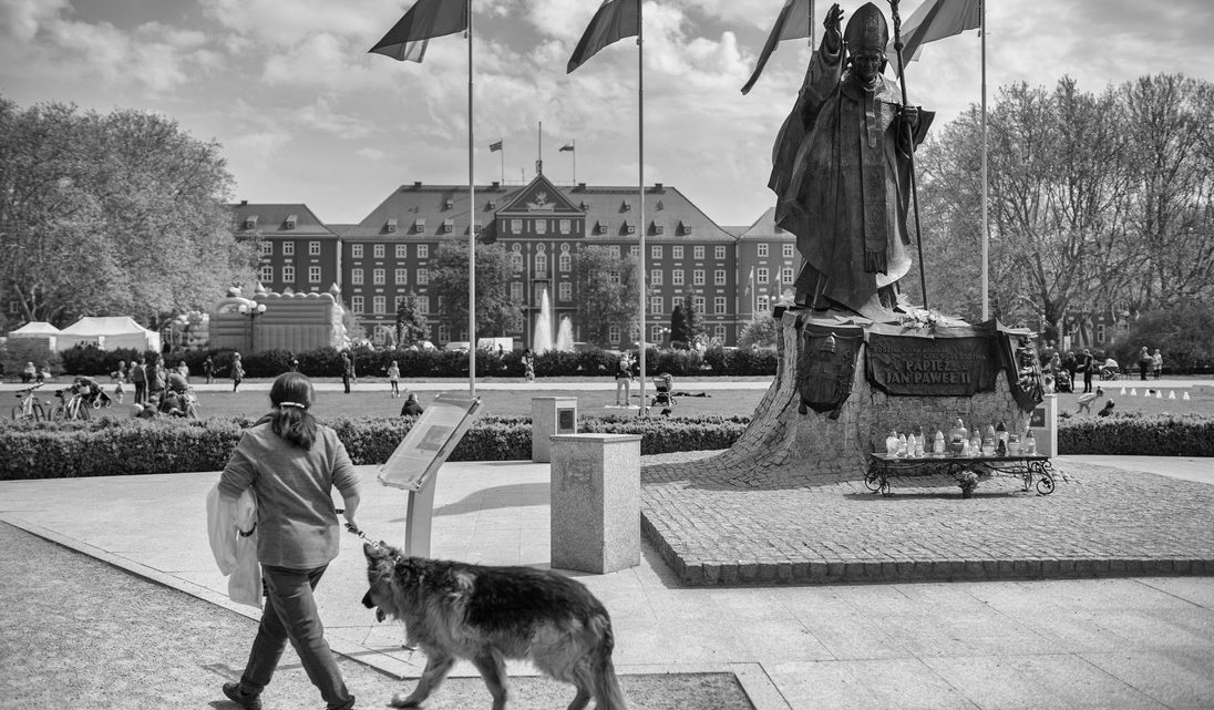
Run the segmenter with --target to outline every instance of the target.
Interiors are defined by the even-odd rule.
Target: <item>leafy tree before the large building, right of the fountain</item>
[[[585,337],[600,347],[611,342],[611,328],[622,337],[640,328],[640,260],[615,256],[605,246],[586,246],[577,256],[577,324]]]

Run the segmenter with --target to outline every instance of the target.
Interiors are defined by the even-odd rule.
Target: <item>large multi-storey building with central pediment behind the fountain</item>
[[[646,186],[640,223],[640,197],[636,187],[556,186],[538,175],[526,186],[477,186],[469,210],[467,186],[414,182],[395,189],[358,225],[325,226],[305,205],[240,203],[234,234],[261,240],[267,289],[320,292],[336,283],[346,306],[384,342],[397,303],[409,292],[424,312],[437,311],[429,289],[431,260],[442,243],[466,242],[475,229],[511,255],[510,295],[526,317],[506,335],[529,343],[545,291],[554,322],[577,309],[579,251],[595,245],[620,257],[641,256],[643,231],[646,340],[665,342],[671,311],[692,294],[707,335],[736,345],[741,326],[792,286],[793,237],[772,223],[771,211],[748,228],[727,231],[662,183]],[[438,343],[467,340],[466,331],[446,326],[431,335]],[[613,329],[608,345],[624,346],[635,336]]]

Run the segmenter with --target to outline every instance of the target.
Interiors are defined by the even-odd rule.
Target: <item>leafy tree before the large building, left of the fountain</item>
[[[430,267],[430,294],[438,299],[438,322],[449,333],[467,330],[467,243],[444,242]],[[510,299],[510,255],[503,244],[476,245],[476,331],[504,336],[522,317]]]

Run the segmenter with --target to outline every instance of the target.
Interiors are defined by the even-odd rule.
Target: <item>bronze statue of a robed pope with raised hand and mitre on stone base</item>
[[[883,76],[881,11],[862,6],[845,33],[841,21],[833,5],[776,140],[767,187],[777,195],[776,223],[796,235],[802,257],[796,302],[885,322],[910,269],[910,142],[923,141],[934,114],[902,106]]]

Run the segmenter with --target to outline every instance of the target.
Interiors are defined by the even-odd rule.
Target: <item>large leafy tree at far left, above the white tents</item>
[[[151,113],[0,97],[0,289],[27,320],[130,314],[157,328],[253,282],[217,143]],[[8,257],[7,255],[12,255]]]

